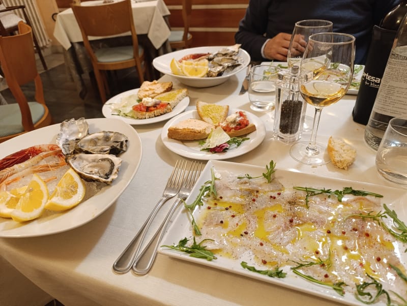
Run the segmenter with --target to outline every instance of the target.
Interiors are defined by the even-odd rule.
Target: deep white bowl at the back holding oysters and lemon
[[[173,78],[176,78],[179,80],[181,83],[191,86],[191,87],[211,87],[215,85],[222,84],[225,82],[228,78],[230,78],[232,75],[237,74],[239,71],[242,69],[245,69],[247,65],[250,63],[250,55],[247,53],[245,50],[242,48],[239,49],[239,56],[243,58],[243,64],[236,67],[234,70],[231,72],[228,72],[222,76],[219,77],[214,77],[214,78],[195,78],[195,77],[187,77],[187,76],[181,76],[181,75],[175,75],[171,72],[171,69],[169,67],[169,64],[171,63],[172,58],[175,58],[179,60],[185,55],[188,54],[193,54],[193,53],[214,53],[219,51],[222,48],[225,48],[226,46],[217,46],[217,47],[196,47],[196,48],[189,48],[189,49],[183,49],[183,50],[178,50],[175,52],[167,53],[164,55],[161,55],[159,57],[154,58],[153,60],[153,66],[155,69],[157,69],[159,72],[168,74],[172,76]]]

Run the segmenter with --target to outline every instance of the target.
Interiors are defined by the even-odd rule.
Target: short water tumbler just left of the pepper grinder
[[[277,74],[280,68],[271,65],[257,65],[250,70],[249,100],[255,111],[272,110],[275,105]]]

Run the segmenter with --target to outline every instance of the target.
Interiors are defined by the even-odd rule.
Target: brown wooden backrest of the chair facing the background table
[[[90,54],[93,52],[88,36],[107,37],[129,32],[135,56],[138,55],[138,39],[130,0],[100,5],[72,4],[71,8],[82,33],[83,44]]]

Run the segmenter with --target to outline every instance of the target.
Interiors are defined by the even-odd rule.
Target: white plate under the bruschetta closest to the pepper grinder
[[[236,111],[239,111],[239,109],[231,109],[229,110],[229,114],[235,113]],[[208,151],[201,151],[201,146],[199,145],[198,140],[180,141],[168,138],[167,134],[168,128],[170,126],[175,125],[178,122],[186,120],[188,118],[199,119],[199,115],[196,110],[187,111],[169,120],[162,129],[161,140],[164,145],[172,152],[177,153],[178,155],[181,155],[183,157],[196,160],[225,160],[228,158],[241,156],[257,147],[266,136],[266,128],[264,127],[263,122],[252,113],[249,113],[247,111],[245,111],[245,113],[249,121],[256,126],[256,131],[248,134],[247,136],[242,136],[249,137],[250,139],[242,142],[239,147],[232,147],[225,152],[211,153]]]

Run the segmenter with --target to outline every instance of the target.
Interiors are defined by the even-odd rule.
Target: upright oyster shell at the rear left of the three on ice
[[[65,155],[72,154],[78,139],[89,133],[89,125],[85,118],[64,120],[56,136],[56,144]]]

